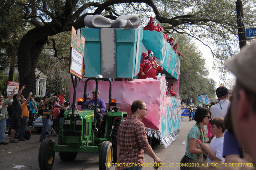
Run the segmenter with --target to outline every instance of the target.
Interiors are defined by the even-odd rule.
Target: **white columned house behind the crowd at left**
[[[4,70],[3,76],[8,76],[9,75],[9,70],[10,67],[6,67],[6,69]],[[38,76],[39,74],[39,76]],[[19,71],[18,68],[15,68],[15,77],[19,76]],[[41,96],[44,97],[45,96],[45,87],[46,87],[46,79],[47,76],[44,75],[44,73],[42,73],[40,70],[38,70],[36,68],[36,77],[39,77],[36,81],[36,94],[35,96]],[[40,89],[39,89],[40,86]]]

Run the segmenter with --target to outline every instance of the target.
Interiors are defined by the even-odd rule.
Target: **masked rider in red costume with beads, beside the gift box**
[[[148,50],[148,56],[143,58],[140,62],[140,73],[138,78],[156,79],[157,73],[161,73],[163,71],[163,67],[159,67],[155,59],[154,53],[151,50]]]

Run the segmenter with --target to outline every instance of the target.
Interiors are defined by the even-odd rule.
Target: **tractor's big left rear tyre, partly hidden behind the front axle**
[[[62,128],[59,129],[58,145],[66,145],[62,141]],[[59,152],[60,159],[63,161],[73,161],[76,159],[77,152]]]

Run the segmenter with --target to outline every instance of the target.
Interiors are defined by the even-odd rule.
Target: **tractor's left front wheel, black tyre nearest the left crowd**
[[[40,144],[38,163],[41,170],[51,170],[54,163],[55,152],[51,151],[52,140],[45,139]]]

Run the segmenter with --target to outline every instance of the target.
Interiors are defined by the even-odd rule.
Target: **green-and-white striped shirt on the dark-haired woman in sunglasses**
[[[204,131],[204,128],[202,130]],[[202,133],[203,133],[203,131],[202,131]],[[185,155],[187,155],[191,159],[197,160],[197,154],[192,154],[189,152],[189,138],[191,138],[191,137],[200,140],[200,131],[196,125],[194,125],[188,132],[187,147],[186,147]],[[202,138],[204,141],[204,135]],[[196,146],[196,149],[199,149],[199,148]],[[199,159],[198,161],[202,162],[203,157],[201,159]]]

